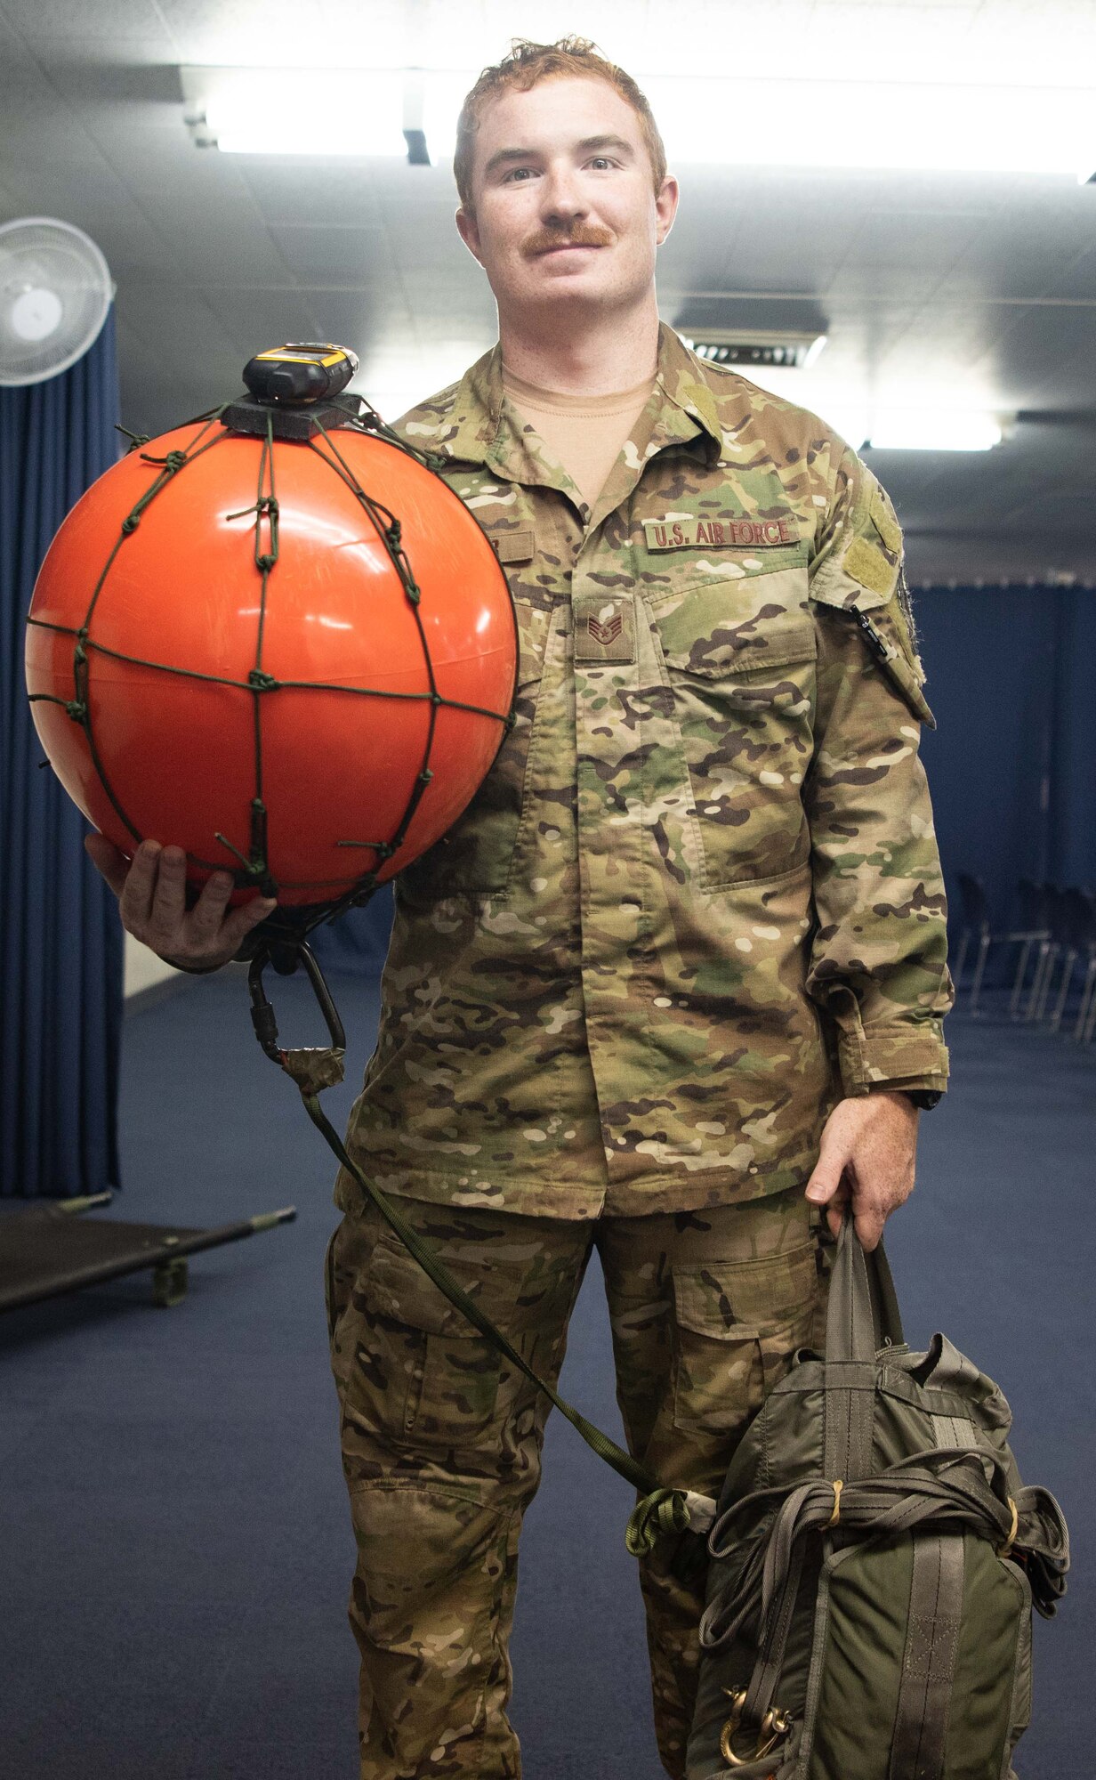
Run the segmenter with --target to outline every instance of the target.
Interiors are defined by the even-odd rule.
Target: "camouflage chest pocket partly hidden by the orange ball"
[[[552,607],[532,605],[516,596],[514,612],[518,685],[512,728],[464,813],[429,853],[397,878],[397,895],[409,902],[502,895],[509,885],[525,808]]]

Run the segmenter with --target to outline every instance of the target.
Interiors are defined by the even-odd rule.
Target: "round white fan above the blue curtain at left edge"
[[[98,336],[114,297],[110,269],[71,222],[0,226],[0,384],[44,383]]]

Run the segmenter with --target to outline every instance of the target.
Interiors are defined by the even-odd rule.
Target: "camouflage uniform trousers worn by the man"
[[[765,1390],[820,1337],[824,1246],[801,1189],[594,1223],[400,1209],[552,1383],[598,1250],[628,1447],[664,1485],[717,1495]],[[343,1216],[326,1271],[358,1543],[361,1780],[518,1780],[507,1639],[548,1401],[372,1207]],[[680,1780],[703,1570],[681,1581],[671,1556],[644,1559],[641,1586],[658,1750]]]

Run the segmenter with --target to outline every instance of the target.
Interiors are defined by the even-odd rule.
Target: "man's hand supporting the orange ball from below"
[[[181,847],[142,840],[128,865],[125,853],[105,835],[85,835],[84,846],[117,897],[126,933],[178,970],[226,965],[251,929],[278,908],[276,897],[254,897],[230,910],[233,879],[228,872],[214,872],[194,908],[187,908],[187,854]]]

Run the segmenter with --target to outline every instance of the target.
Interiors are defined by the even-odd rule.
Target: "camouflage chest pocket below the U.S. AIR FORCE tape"
[[[815,710],[806,568],[685,589],[655,607],[705,890],[808,858]]]

